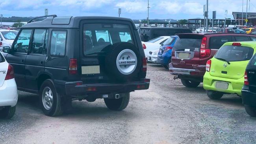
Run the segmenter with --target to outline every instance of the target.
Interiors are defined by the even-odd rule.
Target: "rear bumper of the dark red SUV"
[[[203,77],[205,73],[205,65],[198,65],[196,69],[174,68],[173,64],[169,64],[169,72],[172,75],[199,76]]]

